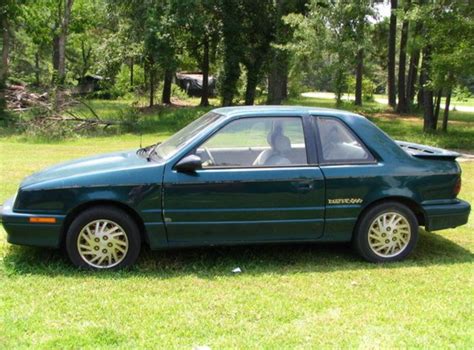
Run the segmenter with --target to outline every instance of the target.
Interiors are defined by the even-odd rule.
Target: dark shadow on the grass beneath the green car
[[[430,265],[471,263],[466,248],[436,233],[420,230],[417,248],[398,263],[371,264],[363,261],[349,244],[270,244],[232,247],[183,248],[151,251],[144,247],[134,267],[122,271],[87,271],[71,266],[59,250],[9,246],[0,271],[9,276],[40,274],[54,276],[93,275],[97,278],[154,277],[166,279],[194,275],[212,279],[232,275],[239,267],[244,274],[291,275],[360,269],[399,269]]]

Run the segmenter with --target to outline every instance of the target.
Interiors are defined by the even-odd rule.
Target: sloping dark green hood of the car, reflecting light
[[[38,184],[55,184],[56,187],[106,184],[104,181],[113,184],[118,178],[124,181],[124,177],[131,181],[133,170],[156,164],[138,156],[135,150],[100,154],[59,163],[34,173],[23,180],[20,188]],[[95,179],[95,183],[91,179]]]

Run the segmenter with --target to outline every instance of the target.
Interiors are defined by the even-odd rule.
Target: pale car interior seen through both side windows
[[[363,161],[371,158],[354,135],[339,121],[323,118],[318,125],[323,161]],[[195,154],[202,159],[204,168],[307,164],[303,129],[296,118],[275,118],[265,122],[255,121],[254,124],[248,121],[248,125],[234,129],[222,130],[220,135],[218,132],[216,138],[219,142],[212,142],[211,137],[198,147]],[[258,129],[258,132],[255,133],[253,129]],[[251,140],[251,145],[244,146],[245,140]]]

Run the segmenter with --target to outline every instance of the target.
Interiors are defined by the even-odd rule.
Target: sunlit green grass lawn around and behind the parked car
[[[150,111],[141,116],[143,144],[168,137],[203,111]],[[399,120],[397,127],[383,118],[375,121],[394,137],[407,132],[405,139],[424,140],[416,120]],[[474,138],[472,129],[466,133]],[[33,171],[136,148],[139,139],[137,133],[110,131],[46,143],[5,133],[0,137],[0,202]],[[432,144],[446,142],[452,141],[432,136]],[[474,203],[474,162],[462,163],[462,169],[460,196]],[[145,249],[129,271],[91,273],[75,270],[58,251],[11,246],[0,229],[0,344],[472,348],[473,230],[472,216],[457,229],[421,230],[414,254],[391,265],[363,262],[347,245],[305,244]],[[243,272],[233,274],[235,267]]]

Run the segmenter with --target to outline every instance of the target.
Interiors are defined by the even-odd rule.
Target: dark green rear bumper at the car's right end
[[[426,229],[438,231],[466,224],[471,205],[466,201],[456,200],[453,204],[426,205],[423,209]]]

